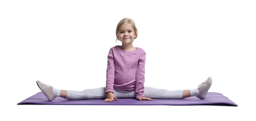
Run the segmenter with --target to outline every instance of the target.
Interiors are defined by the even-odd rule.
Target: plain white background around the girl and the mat
[[[168,2],[167,2],[168,1]],[[107,54],[119,20],[138,27],[146,51],[145,86],[209,92],[226,106],[17,105],[40,92],[104,87]],[[254,0],[1,0],[0,110],[7,121],[252,120],[255,119]],[[251,111],[249,111],[251,110]]]

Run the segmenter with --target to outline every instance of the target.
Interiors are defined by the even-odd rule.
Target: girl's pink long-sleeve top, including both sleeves
[[[112,47],[108,54],[105,92],[114,93],[114,88],[135,90],[136,98],[144,97],[145,51],[125,51],[120,46]]]

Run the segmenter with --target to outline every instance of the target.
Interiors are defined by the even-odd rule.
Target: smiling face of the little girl
[[[125,23],[118,30],[118,40],[123,44],[131,44],[136,36],[131,24]]]

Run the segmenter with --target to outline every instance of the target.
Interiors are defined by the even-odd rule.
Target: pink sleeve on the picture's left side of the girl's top
[[[115,65],[113,58],[113,50],[109,51],[108,54],[108,65],[107,65],[107,81],[106,81],[106,89],[105,93],[112,92],[114,93],[114,77],[115,76]]]

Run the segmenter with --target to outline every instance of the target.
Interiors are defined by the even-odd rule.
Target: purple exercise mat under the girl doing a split
[[[185,99],[153,99],[153,101],[138,101],[136,99],[118,99],[112,102],[104,102],[103,99],[97,100],[67,100],[56,97],[53,101],[48,101],[46,96],[39,92],[24,101],[21,104],[42,104],[42,105],[221,105],[238,106],[233,101],[220,93],[208,92],[204,100],[197,97],[188,97]]]

